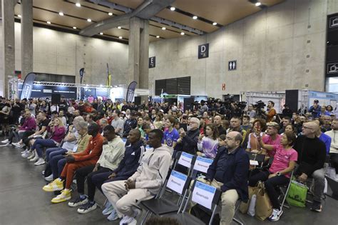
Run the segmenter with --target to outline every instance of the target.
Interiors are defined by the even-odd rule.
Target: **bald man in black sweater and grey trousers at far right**
[[[302,134],[298,136],[294,149],[298,152],[299,167],[296,171],[298,179],[306,182],[307,178],[314,179],[312,211],[322,211],[322,196],[324,195],[324,162],[326,159],[326,148],[324,142],[316,136],[318,124],[314,122],[304,123]]]

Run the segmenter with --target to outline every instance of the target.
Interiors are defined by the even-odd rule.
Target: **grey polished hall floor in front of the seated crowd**
[[[43,166],[34,166],[20,156],[21,149],[0,148],[0,224],[118,224],[109,222],[96,209],[81,215],[66,203],[52,204],[53,193],[41,188],[46,182],[42,179]],[[74,194],[75,195],[75,194]],[[166,194],[167,197],[168,194]],[[104,198],[99,191],[96,201],[103,204]],[[272,224],[270,221],[258,221],[238,213],[236,217],[245,224]],[[235,223],[233,223],[235,224]],[[316,213],[307,208],[292,207],[285,209],[280,221],[273,224],[338,224],[338,201],[327,197],[323,202],[323,211]]]

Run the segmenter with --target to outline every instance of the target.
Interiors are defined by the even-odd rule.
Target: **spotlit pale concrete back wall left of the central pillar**
[[[21,29],[18,23],[15,24],[15,39],[15,67],[21,71]],[[106,85],[107,63],[113,74],[112,84],[125,84],[128,45],[34,27],[35,72],[73,75],[76,83],[80,83],[78,71],[84,67],[84,84]]]

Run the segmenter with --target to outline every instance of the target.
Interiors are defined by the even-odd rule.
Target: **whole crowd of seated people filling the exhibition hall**
[[[230,224],[235,203],[248,201],[248,186],[258,181],[265,183],[273,206],[269,219],[278,221],[283,211],[275,188],[287,184],[292,171],[299,181],[313,179],[311,209],[322,211],[328,155],[338,173],[338,119],[332,106],[322,109],[316,100],[302,114],[287,106],[276,114],[273,101],[266,111],[248,105],[244,114],[238,114],[236,103],[231,106],[229,115],[218,101],[183,111],[182,104],[145,101],[137,106],[110,99],[62,97],[50,104],[1,98],[1,135],[6,136],[1,147],[21,148],[24,159],[44,165],[49,183],[42,189],[56,192],[54,204],[68,201],[86,214],[97,208],[97,188],[108,199],[103,215],[121,219],[120,224],[136,223],[140,201],[158,194],[178,151],[213,160],[204,182],[222,191],[220,224]],[[272,162],[257,171],[250,152]]]

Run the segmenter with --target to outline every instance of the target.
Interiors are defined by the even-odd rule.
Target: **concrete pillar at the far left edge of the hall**
[[[1,88],[0,93],[2,96],[8,96],[8,79],[9,76],[15,75],[15,39],[14,39],[14,0],[2,0],[2,61],[3,73],[0,75]],[[4,81],[4,82],[1,82]]]

